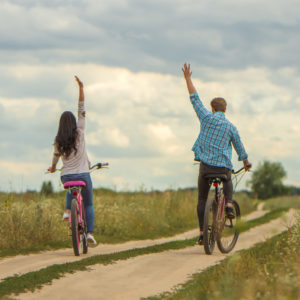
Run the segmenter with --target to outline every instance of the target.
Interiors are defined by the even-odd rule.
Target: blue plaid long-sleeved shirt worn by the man
[[[197,93],[190,95],[191,102],[200,120],[200,133],[192,148],[195,160],[214,167],[232,170],[232,147],[239,160],[248,158],[236,127],[222,112],[212,113],[201,102]]]

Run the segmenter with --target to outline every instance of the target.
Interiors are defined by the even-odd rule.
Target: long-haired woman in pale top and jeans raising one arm
[[[77,76],[75,79],[79,87],[78,100],[78,122],[70,111],[65,111],[59,121],[57,135],[54,141],[54,154],[52,166],[49,168],[51,173],[55,172],[56,164],[61,157],[63,167],[61,169],[61,181],[82,180],[86,187],[82,189],[82,197],[86,213],[87,240],[91,246],[96,246],[93,237],[94,231],[94,207],[93,207],[93,186],[90,177],[90,162],[85,149],[84,129],[85,129],[85,110],[83,84]],[[67,193],[66,211],[63,219],[69,219],[71,213],[72,195]]]

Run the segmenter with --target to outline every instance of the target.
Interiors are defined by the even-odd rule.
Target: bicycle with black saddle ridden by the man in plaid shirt
[[[238,175],[245,173],[245,168],[241,168],[236,172],[232,172],[236,175],[236,185],[238,184]],[[233,200],[233,210],[235,218],[228,218],[225,213],[225,197],[223,194],[222,182],[227,180],[226,175],[207,175],[206,179],[210,185],[215,188],[213,198],[209,198],[205,205],[204,212],[204,226],[203,226],[203,242],[204,250],[206,254],[212,254],[215,248],[215,242],[217,242],[218,248],[222,253],[230,252],[239,237],[239,231],[237,229],[237,223],[241,217],[241,211],[238,203]]]

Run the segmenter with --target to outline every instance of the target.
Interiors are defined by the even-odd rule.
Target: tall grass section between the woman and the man
[[[196,192],[96,193],[96,232],[103,239],[144,239],[197,226]]]

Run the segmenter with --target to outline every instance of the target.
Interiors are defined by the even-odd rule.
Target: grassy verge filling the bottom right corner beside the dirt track
[[[171,293],[147,299],[300,299],[300,217],[264,243],[194,274]]]

